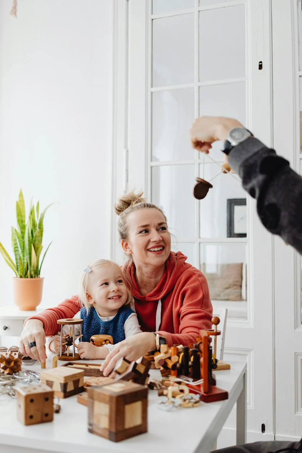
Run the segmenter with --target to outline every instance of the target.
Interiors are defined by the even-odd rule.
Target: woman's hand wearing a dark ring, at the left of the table
[[[29,347],[29,343],[36,342],[36,346]],[[47,355],[45,352],[46,337],[43,323],[39,319],[29,319],[25,324],[20,336],[20,352],[23,356],[31,357],[39,362],[45,362]]]

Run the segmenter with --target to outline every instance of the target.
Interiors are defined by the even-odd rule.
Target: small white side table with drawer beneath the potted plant
[[[43,311],[43,308],[32,311],[21,311],[18,307],[14,306],[0,307],[0,346],[6,340],[4,337],[19,337],[23,330],[25,319],[41,311]],[[6,345],[3,344],[3,346]]]

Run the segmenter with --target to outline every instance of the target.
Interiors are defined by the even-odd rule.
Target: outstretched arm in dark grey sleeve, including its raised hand
[[[193,148],[209,153],[216,140],[224,141],[228,132],[242,125],[234,119],[201,116],[191,126]],[[228,155],[233,171],[243,188],[257,200],[257,212],[265,228],[281,236],[302,254],[302,178],[260,140],[248,138]]]

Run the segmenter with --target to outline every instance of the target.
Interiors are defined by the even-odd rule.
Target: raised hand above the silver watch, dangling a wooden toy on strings
[[[190,129],[192,147],[209,154],[212,143],[216,140],[225,141],[226,136],[234,127],[243,125],[233,118],[223,116],[201,116],[197,118]]]

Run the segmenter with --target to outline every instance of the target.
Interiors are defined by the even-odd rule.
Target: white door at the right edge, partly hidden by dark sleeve
[[[297,172],[302,157],[301,8],[301,0],[272,2],[274,148]],[[275,238],[275,354],[276,439],[301,438],[301,263],[300,256],[278,237]]]

